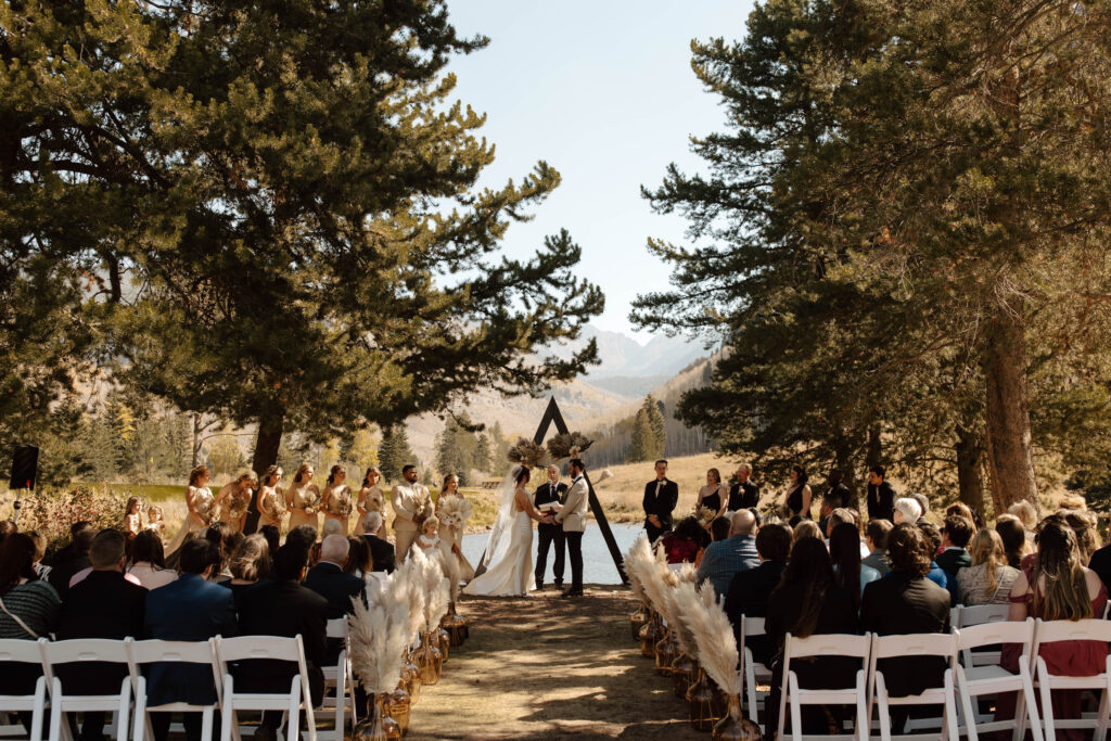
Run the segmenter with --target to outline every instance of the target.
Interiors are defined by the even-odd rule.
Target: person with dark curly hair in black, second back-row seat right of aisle
[[[898,524],[888,534],[891,572],[864,588],[860,602],[860,629],[878,635],[949,632],[949,592],[925,578],[932,547],[922,530]],[[919,694],[940,687],[948,663],[939,657],[881,659],[877,669],[891,697]],[[892,733],[902,733],[905,710],[892,709]]]

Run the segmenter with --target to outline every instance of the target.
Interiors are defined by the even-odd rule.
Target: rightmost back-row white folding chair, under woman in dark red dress
[[[1103,741],[1108,733],[1108,703],[1111,691],[1111,655],[1108,657],[1102,673],[1094,677],[1065,677],[1051,674],[1045,660],[1039,655],[1041,647],[1058,641],[1100,641],[1111,643],[1111,622],[1107,620],[1038,620],[1034,628],[1034,650],[1037,671],[1034,680],[1041,694],[1042,724],[1047,739],[1057,738],[1058,729],[1095,729],[1094,741]],[[1050,699],[1052,690],[1092,690],[1100,694],[1100,705],[1095,715],[1074,719],[1053,718]]]

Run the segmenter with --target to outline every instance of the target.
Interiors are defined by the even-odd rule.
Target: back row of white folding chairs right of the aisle
[[[1012,731],[1019,741],[1028,728],[1035,741],[1057,738],[1064,729],[1094,729],[1095,740],[1107,737],[1111,713],[1111,655],[1104,671],[1094,677],[1067,677],[1049,671],[1045,660],[1038,655],[1044,643],[1059,641],[1098,641],[1111,643],[1111,622],[1105,620],[1042,621],[1028,618],[1023,622],[990,622],[968,625],[951,633],[910,635],[811,635],[805,639],[787,637],[783,647],[783,684],[780,697],[779,733],[782,738],[785,705],[791,704],[792,738],[802,739],[801,705],[850,704],[855,707],[855,737],[869,738],[869,722],[877,712],[880,738],[891,738],[892,705],[940,704],[944,708],[943,732],[954,741],[965,733],[969,741],[977,741],[980,733]],[[959,655],[989,645],[1017,643],[1021,648],[1019,673],[1011,674],[1002,667],[970,665],[961,663]],[[921,694],[891,698],[887,692],[883,673],[877,670],[882,659],[935,655],[949,664],[941,687],[929,688]],[[844,690],[804,690],[790,668],[792,660],[810,657],[853,657],[867,662],[868,672],[857,673],[854,687]],[[1033,660],[1031,658],[1034,658]],[[867,681],[865,681],[867,680]],[[1035,682],[1037,680],[1037,682]],[[1041,712],[1034,691],[1041,700]],[[1099,710],[1094,715],[1079,719],[1055,719],[1051,703],[1053,690],[1093,690],[1100,694]],[[1015,693],[1014,718],[991,720],[979,712],[975,702],[983,695]],[[957,703],[957,694],[960,704]],[[815,737],[808,737],[815,738]],[[827,738],[827,737],[817,737]]]

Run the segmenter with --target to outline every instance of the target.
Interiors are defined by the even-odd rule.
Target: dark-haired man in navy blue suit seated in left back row
[[[261,535],[251,537],[261,540]],[[138,542],[137,539],[136,543]],[[219,562],[220,553],[216,544],[203,538],[194,538],[181,547],[181,578],[147,594],[148,638],[163,641],[207,641],[213,635],[230,638],[236,634],[236,608],[231,591],[208,581]],[[196,705],[216,703],[216,685],[210,667],[157,663],[148,667],[146,673],[149,707],[171,702]],[[151,713],[154,741],[164,741],[169,735],[170,714]],[[201,713],[184,713],[183,721],[186,738],[199,741]]]

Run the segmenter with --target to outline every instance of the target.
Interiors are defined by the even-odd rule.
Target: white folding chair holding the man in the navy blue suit
[[[201,713],[201,738],[212,739],[212,719],[220,705],[220,665],[216,659],[216,641],[136,641],[127,639],[128,669],[131,673],[131,685],[136,693],[136,717],[132,731],[133,741],[152,739],[150,713],[152,712],[199,712]],[[194,705],[188,702],[169,702],[161,705],[147,705],[147,678],[142,667],[159,662],[204,664],[212,672],[216,685],[216,702],[211,705]]]

